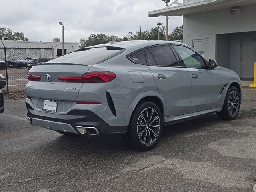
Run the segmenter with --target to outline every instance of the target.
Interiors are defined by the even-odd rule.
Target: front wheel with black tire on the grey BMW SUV
[[[228,89],[222,111],[217,115],[222,120],[235,120],[240,110],[240,93],[235,86]]]

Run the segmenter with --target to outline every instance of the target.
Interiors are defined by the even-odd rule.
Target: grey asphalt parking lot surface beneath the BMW
[[[31,126],[24,100],[0,114],[0,191],[256,191],[256,89],[237,120],[216,114],[164,129],[154,150],[116,137],[66,137]]]

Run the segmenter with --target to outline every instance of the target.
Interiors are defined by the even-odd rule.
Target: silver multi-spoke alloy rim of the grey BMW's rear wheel
[[[151,107],[142,110],[137,122],[137,133],[140,141],[145,145],[153,144],[159,136],[159,131],[160,117],[158,112]]]

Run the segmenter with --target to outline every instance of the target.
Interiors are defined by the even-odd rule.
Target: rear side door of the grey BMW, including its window
[[[145,49],[145,54],[158,92],[166,102],[167,116],[189,113],[190,78],[186,69],[177,62],[178,56],[173,48],[170,44],[153,46]]]

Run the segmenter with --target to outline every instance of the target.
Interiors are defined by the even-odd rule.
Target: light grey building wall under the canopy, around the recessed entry
[[[193,40],[208,39],[208,57],[216,59],[216,34],[256,31],[256,5],[240,10],[237,15],[225,9],[183,16],[184,43],[192,47]]]

